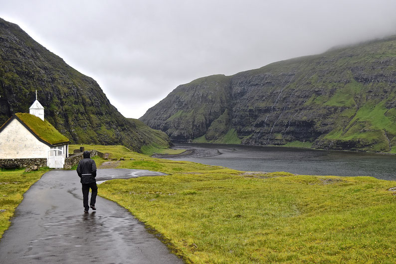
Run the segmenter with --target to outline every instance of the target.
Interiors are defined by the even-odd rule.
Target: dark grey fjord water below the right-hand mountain
[[[242,171],[287,171],[303,175],[373,176],[396,180],[396,155],[275,146],[175,144],[196,149],[178,160]]]

